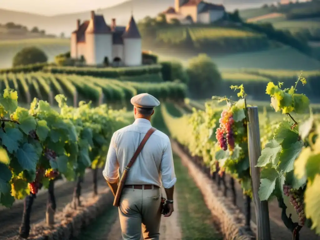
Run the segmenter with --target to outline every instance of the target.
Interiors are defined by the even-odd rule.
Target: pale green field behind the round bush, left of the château
[[[60,53],[70,51],[70,40],[60,38],[34,38],[23,40],[0,41],[0,68],[10,68],[14,55],[22,48],[36,46],[42,49],[49,61],[54,61],[54,57]]]

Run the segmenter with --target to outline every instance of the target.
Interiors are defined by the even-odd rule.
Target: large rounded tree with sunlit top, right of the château
[[[188,62],[188,88],[193,97],[212,95],[221,84],[217,66],[206,54],[199,54]]]

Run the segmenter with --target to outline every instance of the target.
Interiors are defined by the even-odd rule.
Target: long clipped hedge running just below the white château
[[[90,68],[90,67],[56,67],[49,66],[43,68],[47,73],[76,74],[78,76],[92,76],[101,78],[120,79],[122,76],[141,76],[145,74],[161,73],[161,65],[153,64],[139,67],[123,68]]]

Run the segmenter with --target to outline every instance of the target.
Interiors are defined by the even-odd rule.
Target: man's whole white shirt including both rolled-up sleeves
[[[114,183],[122,175],[150,128],[151,123],[147,119],[138,118],[133,124],[113,134],[106,166],[102,172],[108,182]],[[130,168],[125,184],[153,184],[172,188],[176,181],[170,139],[163,132],[156,130]]]

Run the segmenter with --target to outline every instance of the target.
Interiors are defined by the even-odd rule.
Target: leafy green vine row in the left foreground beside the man
[[[63,175],[74,180],[86,167],[104,158],[111,134],[129,123],[106,105],[81,103],[68,107],[57,95],[60,112],[34,99],[30,108],[18,107],[18,94],[5,89],[0,98],[0,204],[36,195],[50,180]],[[103,161],[101,161],[103,164]]]

